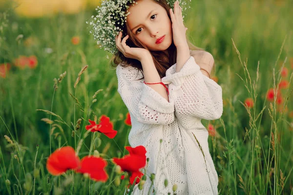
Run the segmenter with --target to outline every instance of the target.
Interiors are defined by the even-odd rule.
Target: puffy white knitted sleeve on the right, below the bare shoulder
[[[202,74],[193,56],[179,72],[175,70],[176,64],[167,70],[162,82],[169,83],[169,96],[174,99],[176,112],[207,120],[220,118],[223,113],[222,88]]]

